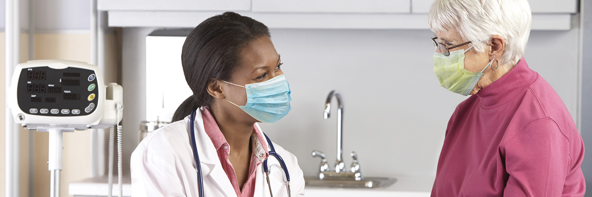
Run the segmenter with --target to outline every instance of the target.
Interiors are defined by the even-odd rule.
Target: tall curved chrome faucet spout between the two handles
[[[331,111],[331,100],[333,96],[337,99],[337,160],[335,164],[335,172],[345,172],[345,164],[343,164],[343,101],[341,94],[337,91],[329,92],[327,101],[325,102],[324,118],[329,118]]]

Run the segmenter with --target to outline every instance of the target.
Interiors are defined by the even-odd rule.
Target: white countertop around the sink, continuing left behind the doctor
[[[397,182],[388,188],[317,188],[307,187],[304,192],[307,197],[321,196],[400,196],[400,197],[429,197],[434,177],[406,177],[395,176]],[[107,176],[94,177],[76,182],[68,186],[69,195],[74,196],[107,196]],[[117,176],[113,177],[113,195],[117,196]],[[123,196],[131,196],[131,179],[129,176],[123,179]]]

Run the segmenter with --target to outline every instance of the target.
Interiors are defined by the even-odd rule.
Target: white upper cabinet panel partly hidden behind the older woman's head
[[[432,2],[434,0],[411,0],[411,12],[425,14],[430,11]],[[572,14],[578,11],[577,0],[529,0],[528,2],[533,14]]]

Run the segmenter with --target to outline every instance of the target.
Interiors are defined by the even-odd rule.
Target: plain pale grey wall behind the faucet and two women
[[[305,175],[318,170],[313,150],[323,151],[334,164],[336,115],[324,120],[322,112],[327,93],[336,89],[345,101],[348,167],[355,150],[366,176],[435,176],[446,124],[466,97],[439,86],[432,71],[431,31],[274,29],[271,34],[292,90],[292,111],[273,125],[260,125],[298,157]],[[532,31],[525,55],[572,114],[577,47],[577,29]]]

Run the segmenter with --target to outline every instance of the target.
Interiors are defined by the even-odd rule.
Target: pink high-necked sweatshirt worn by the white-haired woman
[[[432,196],[584,196],[584,144],[524,59],[456,107]]]

